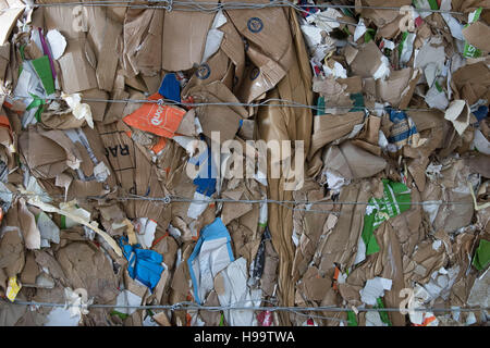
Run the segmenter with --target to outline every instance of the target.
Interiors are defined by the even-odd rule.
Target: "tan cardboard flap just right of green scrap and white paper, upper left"
[[[88,47],[86,40],[71,40],[59,59],[62,89],[69,95],[98,87],[95,69],[87,59]]]

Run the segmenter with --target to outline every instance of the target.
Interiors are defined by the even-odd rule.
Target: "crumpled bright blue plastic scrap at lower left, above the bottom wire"
[[[163,257],[157,251],[142,249],[139,244],[134,246],[127,244],[127,237],[119,239],[119,245],[128,262],[127,272],[130,276],[143,283],[152,291],[160,281],[161,272],[164,270],[161,264]]]

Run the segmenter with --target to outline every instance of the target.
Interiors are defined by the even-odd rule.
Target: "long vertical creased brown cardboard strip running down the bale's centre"
[[[311,104],[313,92],[311,69],[299,24],[294,11],[286,12],[290,18],[290,29],[293,36],[293,64],[287,75],[281,79],[277,88],[267,94],[267,98],[295,100],[304,104]],[[305,157],[310,147],[311,110],[299,108],[259,108],[258,135],[268,140],[303,140]],[[292,159],[294,161],[294,159]],[[270,175],[268,165],[268,175]],[[268,198],[291,200],[292,192],[285,191],[284,179],[268,179]],[[277,295],[284,306],[294,306],[294,286],[290,282],[294,249],[291,240],[292,211],[277,204],[268,207],[268,224],[272,236],[272,244],[279,254],[279,275]],[[281,314],[281,322],[289,323],[287,315]]]

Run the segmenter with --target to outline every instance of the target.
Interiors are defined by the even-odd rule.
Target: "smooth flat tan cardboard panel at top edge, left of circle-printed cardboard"
[[[204,0],[195,2],[206,2]],[[209,1],[207,1],[209,3]],[[176,72],[200,64],[206,37],[215,18],[213,12],[166,12],[163,40],[161,45],[161,67]]]

